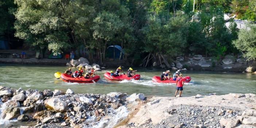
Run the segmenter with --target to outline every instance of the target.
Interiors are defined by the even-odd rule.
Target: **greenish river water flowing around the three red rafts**
[[[31,89],[61,89],[66,91],[70,88],[75,93],[101,93],[123,92],[123,93],[144,93],[146,96],[174,96],[175,84],[157,84],[152,82],[154,75],[160,75],[164,70],[133,68],[141,75],[139,81],[113,82],[104,79],[106,69],[97,72],[101,76],[100,81],[95,84],[67,83],[54,77],[54,73],[64,72],[65,66],[46,65],[12,65],[0,64],[1,77],[0,85]],[[125,70],[127,68],[123,68]],[[75,70],[75,68],[73,68]],[[174,71],[172,71],[174,72]],[[230,73],[213,71],[182,71],[183,75],[191,77],[190,83],[185,83],[183,96],[195,96],[196,94],[216,93],[217,95],[228,93],[254,93],[256,94],[256,75],[249,73]]]

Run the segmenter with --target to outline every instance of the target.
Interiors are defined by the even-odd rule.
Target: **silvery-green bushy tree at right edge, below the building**
[[[251,30],[241,29],[238,39],[233,41],[234,46],[240,50],[247,60],[256,59],[256,26],[249,26]]]

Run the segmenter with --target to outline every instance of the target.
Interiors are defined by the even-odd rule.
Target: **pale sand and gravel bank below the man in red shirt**
[[[152,97],[118,128],[256,128],[256,95]]]

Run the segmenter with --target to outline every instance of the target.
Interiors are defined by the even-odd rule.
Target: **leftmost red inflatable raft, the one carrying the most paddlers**
[[[70,75],[62,73],[61,74],[61,79],[62,79],[62,81],[72,82],[72,83],[73,82],[76,82],[76,83],[93,83],[93,81],[97,82],[98,80],[100,80],[100,76],[95,75],[93,78],[89,78],[89,79],[85,79],[84,77],[72,78]]]

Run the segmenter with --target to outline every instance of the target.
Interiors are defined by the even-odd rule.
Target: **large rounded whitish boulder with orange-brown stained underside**
[[[50,98],[44,101],[44,105],[47,110],[51,110],[53,112],[66,112],[67,104],[59,98]]]

